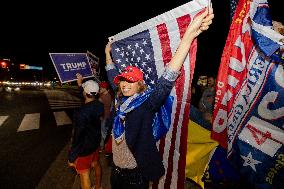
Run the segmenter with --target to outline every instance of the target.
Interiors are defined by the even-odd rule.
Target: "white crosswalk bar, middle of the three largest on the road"
[[[40,113],[26,114],[17,132],[39,128]]]

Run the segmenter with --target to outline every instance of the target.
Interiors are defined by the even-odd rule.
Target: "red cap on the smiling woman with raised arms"
[[[143,73],[137,67],[127,66],[121,74],[114,78],[114,84],[117,85],[121,78],[124,78],[129,82],[143,81]]]

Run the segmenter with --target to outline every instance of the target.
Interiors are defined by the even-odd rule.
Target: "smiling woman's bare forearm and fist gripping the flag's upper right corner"
[[[208,9],[205,9],[202,14],[193,19],[192,23],[187,27],[178,49],[168,65],[172,71],[179,71],[181,69],[192,41],[209,28],[213,17],[213,10],[210,9],[208,13]]]

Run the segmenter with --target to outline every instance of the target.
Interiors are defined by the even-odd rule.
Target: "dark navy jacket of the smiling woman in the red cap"
[[[116,88],[113,78],[116,69],[107,71],[111,86]],[[157,181],[165,174],[162,157],[156,147],[152,123],[155,113],[164,104],[174,86],[173,81],[161,77],[149,98],[132,110],[125,118],[125,139],[142,175],[149,181]]]

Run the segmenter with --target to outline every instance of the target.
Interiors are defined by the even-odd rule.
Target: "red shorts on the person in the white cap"
[[[99,161],[99,149],[88,156],[78,157],[75,160],[75,169],[77,173],[81,174],[91,168],[92,162]]]

